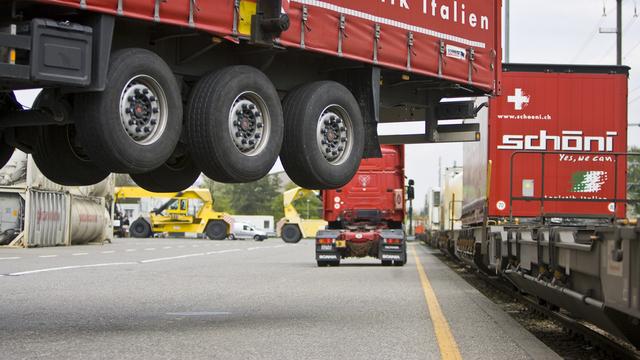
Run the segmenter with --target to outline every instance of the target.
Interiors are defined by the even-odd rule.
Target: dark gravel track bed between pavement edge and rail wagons
[[[565,330],[560,322],[533,311],[515,297],[487,284],[485,280],[476,276],[475,269],[443,254],[436,256],[564,359],[610,360],[613,358],[611,354],[588,344],[580,335],[574,335]],[[627,347],[632,348],[631,345]],[[640,352],[636,351],[636,353],[640,359]]]

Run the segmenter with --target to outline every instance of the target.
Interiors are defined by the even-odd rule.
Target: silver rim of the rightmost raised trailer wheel
[[[332,165],[344,163],[353,149],[353,122],[340,105],[327,106],[318,117],[316,142],[322,156]]]

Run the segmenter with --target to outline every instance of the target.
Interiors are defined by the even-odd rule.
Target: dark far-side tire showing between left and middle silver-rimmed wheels
[[[178,192],[196,182],[200,169],[191,158],[186,144],[179,143],[169,160],[159,168],[143,174],[130,174],[141,188],[152,192]]]

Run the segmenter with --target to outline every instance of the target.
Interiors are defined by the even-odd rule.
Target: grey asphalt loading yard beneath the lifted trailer
[[[310,241],[117,239],[4,248],[0,354],[438,359],[443,351],[443,358],[557,358],[430,250],[416,244],[409,254],[405,267],[349,260],[317,268]]]

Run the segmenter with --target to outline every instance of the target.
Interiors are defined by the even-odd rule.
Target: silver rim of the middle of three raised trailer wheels
[[[238,95],[229,110],[229,136],[236,149],[246,156],[258,155],[270,133],[271,117],[264,99],[252,91]]]

